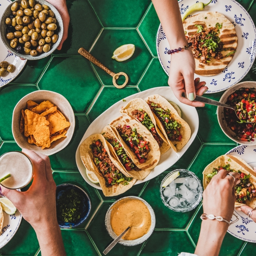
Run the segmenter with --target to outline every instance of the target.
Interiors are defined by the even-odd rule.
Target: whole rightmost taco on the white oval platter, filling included
[[[156,94],[149,96],[146,103],[152,110],[157,126],[165,135],[168,143],[175,152],[188,143],[191,136],[191,129],[172,107],[172,105],[162,96]]]

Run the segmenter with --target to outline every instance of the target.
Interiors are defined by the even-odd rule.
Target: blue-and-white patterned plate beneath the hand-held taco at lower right
[[[256,146],[240,145],[231,149],[227,154],[240,157],[252,168],[256,167]],[[234,211],[232,221],[238,218],[238,222],[230,225],[227,232],[241,240],[256,243],[256,223],[243,212]]]

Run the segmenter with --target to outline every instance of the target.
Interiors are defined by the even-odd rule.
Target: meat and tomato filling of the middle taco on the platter
[[[149,142],[144,141],[142,136],[137,133],[137,129],[131,127],[129,125],[119,125],[116,127],[118,130],[118,133],[125,141],[125,144],[127,144],[133,152],[136,154],[138,161],[142,164],[146,161],[149,154]]]

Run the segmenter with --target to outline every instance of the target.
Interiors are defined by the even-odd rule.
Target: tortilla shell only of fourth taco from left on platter
[[[128,102],[128,104],[124,108],[122,108],[120,110],[120,113],[122,113],[122,114],[125,113],[125,114],[129,115],[131,118],[135,119],[137,122],[139,122],[137,120],[137,118],[134,118],[132,113],[131,113],[131,112],[133,112],[133,110],[138,110],[139,108],[144,110],[148,114],[149,118],[152,120],[152,123],[155,125],[155,128],[156,128],[156,131],[157,131],[158,135],[163,140],[163,144],[160,147],[160,153],[161,153],[161,155],[164,154],[165,152],[167,152],[168,149],[170,149],[170,145],[167,142],[165,136],[162,134],[162,132],[157,127],[156,120],[154,118],[153,113],[150,110],[149,105],[146,104],[146,102],[143,99],[137,98],[137,99],[131,100],[130,102]]]

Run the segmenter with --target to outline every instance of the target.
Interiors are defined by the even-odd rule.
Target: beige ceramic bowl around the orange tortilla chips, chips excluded
[[[63,113],[67,121],[70,122],[70,126],[66,128],[67,138],[60,138],[57,141],[52,142],[51,146],[48,149],[47,148],[42,149],[41,147],[36,146],[34,144],[29,144],[28,139],[24,136],[23,133],[20,132],[21,110],[27,109],[27,101],[29,100],[32,100],[38,104],[40,104],[44,100],[49,100],[50,102],[52,102],[52,104],[57,106],[57,110]],[[45,90],[33,91],[27,94],[26,96],[24,96],[16,104],[13,110],[13,120],[12,120],[13,137],[16,143],[18,144],[18,146],[21,147],[21,149],[30,149],[30,150],[34,150],[35,152],[39,152],[47,156],[50,156],[64,149],[66,146],[68,146],[73,136],[74,130],[75,130],[75,115],[71,107],[71,104],[68,102],[68,100],[64,96],[54,91],[45,91]]]

